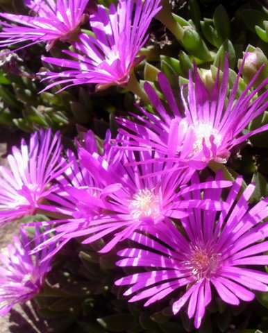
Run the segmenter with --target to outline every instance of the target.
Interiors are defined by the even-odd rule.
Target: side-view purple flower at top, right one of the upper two
[[[131,69],[142,60],[137,53],[146,42],[146,31],[151,20],[160,10],[160,0],[119,0],[117,8],[112,4],[109,13],[102,5],[90,15],[94,33],[79,35],[73,45],[77,51],[63,51],[75,60],[43,57],[53,65],[67,67],[59,73],[42,72],[46,79],[59,83],[80,85],[97,83],[98,88],[128,83]]]

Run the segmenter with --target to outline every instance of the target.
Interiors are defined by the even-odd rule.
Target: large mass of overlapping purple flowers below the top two
[[[221,84],[215,83],[211,99],[197,70],[194,78],[195,85],[190,76],[183,99],[184,116],[166,78],[160,76],[159,82],[174,114],[147,86],[159,117],[141,109],[144,117],[137,122],[119,119],[130,133],[122,129],[113,140],[107,133],[103,153],[90,131],[78,143],[77,156],[67,151],[63,158],[59,134],[51,139],[51,130],[35,133],[29,146],[23,141],[21,150],[13,149],[8,156],[11,171],[1,167],[1,225],[36,212],[62,219],[46,222],[51,229],[44,232],[45,239],[37,235],[30,252],[23,231],[23,246],[15,239],[8,259],[2,258],[1,314],[40,290],[53,254],[74,237],[83,237],[83,244],[103,238],[101,253],[125,239],[135,241],[140,247],[120,250],[123,258],[117,265],[149,271],[115,283],[130,284],[125,295],[134,294],[130,301],[146,298],[145,305],[185,290],[176,294],[173,311],[189,300],[187,313],[196,327],[212,298],[212,285],[233,305],[252,300],[251,290],[267,291],[268,275],[262,268],[268,264],[268,223],[263,222],[268,199],[250,207],[253,184],[242,191],[241,177],[232,183],[221,172],[201,182],[196,170],[212,160],[226,161],[231,147],[256,133],[240,134],[267,108],[268,93],[256,93],[268,80],[234,101],[237,76],[224,105],[228,70]],[[37,256],[35,264],[31,253]]]

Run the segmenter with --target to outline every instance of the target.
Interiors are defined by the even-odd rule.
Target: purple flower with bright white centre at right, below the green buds
[[[166,155],[169,159],[203,169],[210,161],[225,163],[231,154],[231,148],[237,146],[256,133],[267,130],[268,125],[242,133],[250,121],[268,107],[268,90],[260,96],[261,89],[268,84],[268,78],[253,88],[262,67],[253,76],[242,94],[237,97],[238,84],[244,61],[228,93],[228,58],[224,60],[222,76],[217,71],[215,84],[209,92],[201,80],[197,67],[190,71],[189,83],[181,90],[183,110],[178,108],[176,98],[164,74],[158,74],[158,81],[167,100],[164,105],[153,87],[145,83],[151,103],[157,114],[151,114],[141,108],[143,116],[133,114],[137,119],[118,119],[124,126],[119,130],[128,136],[133,149],[146,147]]]

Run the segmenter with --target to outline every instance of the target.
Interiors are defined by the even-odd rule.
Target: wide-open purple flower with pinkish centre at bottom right
[[[226,198],[228,206],[220,214],[190,208],[190,215],[181,219],[180,230],[169,225],[152,235],[155,237],[133,234],[132,240],[146,248],[119,251],[124,259],[117,265],[143,266],[149,271],[115,282],[131,285],[124,293],[132,296],[130,302],[147,299],[147,306],[169,296],[175,300],[172,310],[177,314],[189,301],[187,315],[194,317],[198,328],[212,300],[212,286],[231,305],[253,300],[253,291],[268,291],[268,256],[264,254],[268,223],[262,222],[268,216],[268,198],[249,208],[255,186],[249,185],[237,198],[241,185],[242,178],[237,178]],[[220,196],[219,189],[203,193],[204,198]]]

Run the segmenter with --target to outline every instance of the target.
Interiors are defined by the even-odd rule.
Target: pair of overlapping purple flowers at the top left
[[[97,88],[109,85],[124,85],[129,80],[131,69],[143,57],[137,57],[146,42],[151,20],[160,10],[160,0],[120,0],[117,8],[112,4],[109,12],[104,6],[94,6],[89,0],[24,0],[35,15],[0,13],[5,21],[0,33],[0,46],[28,42],[26,46],[45,42],[49,51],[57,41],[72,44],[74,51],[63,50],[68,56],[79,60],[42,57],[53,65],[72,70],[60,73],[42,72],[46,79],[58,83],[81,85],[97,83]],[[135,15],[133,9],[135,8]],[[90,26],[83,33],[81,26]]]

